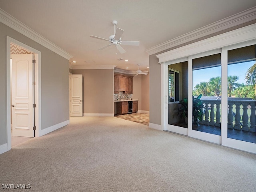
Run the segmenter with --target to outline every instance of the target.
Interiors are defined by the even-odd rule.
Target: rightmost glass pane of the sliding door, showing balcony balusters
[[[255,143],[255,45],[228,50],[228,138]]]

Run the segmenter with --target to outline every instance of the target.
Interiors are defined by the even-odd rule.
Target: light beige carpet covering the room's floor
[[[255,163],[253,154],[120,118],[77,117],[1,154],[0,184],[30,184],[33,192],[254,192]]]

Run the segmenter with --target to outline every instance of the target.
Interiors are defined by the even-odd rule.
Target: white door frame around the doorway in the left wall
[[[11,147],[11,82],[10,82],[10,44],[16,44],[32,53],[34,53],[36,65],[35,65],[35,136],[39,137],[41,134],[41,52],[27,46],[26,44],[19,42],[9,36],[6,38],[6,118],[7,118],[7,150],[10,150]]]

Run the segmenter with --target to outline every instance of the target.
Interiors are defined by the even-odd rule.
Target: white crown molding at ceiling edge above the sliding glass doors
[[[234,14],[233,16],[224,18],[192,32],[181,35],[172,40],[166,41],[162,44],[154,46],[152,48],[146,49],[146,53],[149,55],[156,54],[158,52],[173,48],[175,46],[179,46],[181,44],[185,44],[191,42],[193,40],[220,32],[222,30],[226,30],[228,28],[232,28],[234,26],[238,26],[240,24],[244,24],[246,22],[250,22],[256,19],[256,7],[252,7],[248,10],[240,12],[238,14]]]

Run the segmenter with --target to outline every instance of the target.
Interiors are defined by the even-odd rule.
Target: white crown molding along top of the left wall
[[[17,32],[23,34],[24,36],[34,40],[40,45],[48,48],[49,50],[55,52],[56,54],[70,60],[73,56],[62,50],[60,47],[56,46],[54,43],[50,42],[48,39],[44,38],[42,35],[38,34],[4,10],[0,9],[0,22],[7,25],[8,27],[16,30]]]

